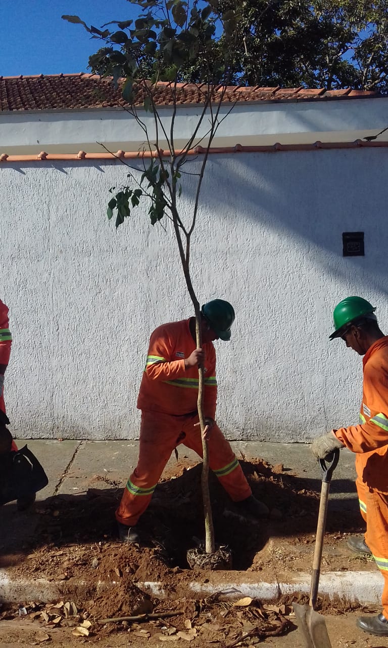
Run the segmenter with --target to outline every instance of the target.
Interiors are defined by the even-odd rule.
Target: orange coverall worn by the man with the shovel
[[[383,615],[388,619],[388,336],[363,356],[360,424],[335,430],[356,452],[356,487],[361,516],[367,524],[365,542],[384,577]]]

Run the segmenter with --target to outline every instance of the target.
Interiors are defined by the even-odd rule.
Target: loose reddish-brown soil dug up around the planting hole
[[[259,572],[257,579],[267,582],[272,582],[275,573],[279,576],[287,570],[310,572],[319,493],[306,480],[288,474],[282,465],[272,467],[260,459],[244,460],[241,465],[253,494],[270,506],[270,520],[242,517],[217,479],[210,475],[215,537],[218,544],[232,550],[233,569]],[[39,503],[36,536],[28,547],[18,548],[23,553],[17,565],[18,575],[60,581],[63,592],[70,592],[73,582],[84,581],[90,585],[89,600],[84,597],[77,603],[92,619],[133,616],[151,610],[178,611],[173,624],[183,624],[184,631],[185,619],[208,623],[206,615],[200,615],[209,605],[211,623],[218,627],[225,625],[226,617],[240,628],[242,617],[246,627],[248,622],[252,623],[244,615],[255,614],[263,619],[261,612],[257,612],[261,609],[259,602],[244,610],[211,597],[205,602],[193,601],[189,588],[187,596],[182,597],[185,583],[195,579],[206,583],[206,572],[193,573],[186,561],[187,550],[203,542],[201,470],[202,464],[188,466],[178,462],[174,470],[164,474],[141,518],[141,547],[123,546],[117,541],[114,510],[122,489],[109,480],[96,478],[98,487],[83,494],[59,495]],[[350,561],[358,561],[357,569],[368,568],[365,559],[350,559],[349,551],[343,550],[343,535],[358,531],[359,524],[354,512],[330,513],[323,570],[348,569],[352,567]],[[168,599],[160,601],[144,594],[139,584],[147,581],[162,583]],[[106,591],[104,583],[109,584]],[[290,600],[285,603],[288,605]],[[349,606],[338,611],[346,609]],[[222,616],[226,610],[227,614]],[[237,613],[241,613],[240,617]],[[282,616],[281,612],[277,612],[277,621],[279,615]],[[272,621],[269,617],[264,621],[268,630]],[[224,632],[224,638],[229,634]]]

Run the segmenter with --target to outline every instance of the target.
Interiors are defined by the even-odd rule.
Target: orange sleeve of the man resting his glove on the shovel
[[[334,434],[352,452],[371,452],[388,445],[388,366],[381,360],[371,358],[365,365],[360,424]]]

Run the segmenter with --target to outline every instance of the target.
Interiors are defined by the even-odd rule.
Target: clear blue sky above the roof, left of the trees
[[[63,14],[100,27],[136,17],[138,7],[127,0],[0,0],[0,75],[89,72],[89,55],[102,41],[62,20]]]

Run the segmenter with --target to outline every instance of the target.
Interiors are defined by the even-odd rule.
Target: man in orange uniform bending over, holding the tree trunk
[[[142,410],[138,464],[116,511],[122,542],[139,542],[136,524],[146,511],[171,452],[183,443],[202,457],[197,413],[200,365],[204,366],[205,438],[210,469],[241,513],[268,516],[256,500],[239,461],[215,422],[217,380],[213,341],[230,340],[235,312],[228,301],[214,299],[202,306],[202,348],[196,349],[195,318],[164,324],[149,342],[137,406]]]

